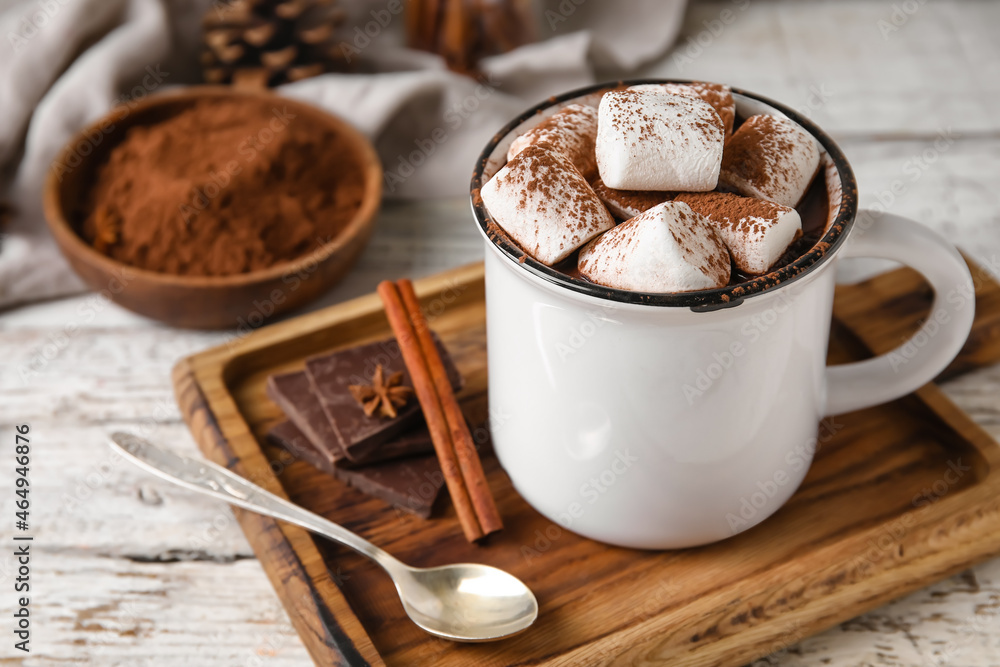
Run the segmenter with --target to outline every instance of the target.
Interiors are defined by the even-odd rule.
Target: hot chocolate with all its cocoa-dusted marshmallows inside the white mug
[[[691,292],[787,266],[825,232],[820,148],[797,123],[740,117],[718,84],[616,88],[586,102],[589,112],[572,104],[543,121],[544,132],[515,138],[507,165],[482,188],[497,231],[526,256],[605,287]],[[585,136],[569,136],[578,128]]]

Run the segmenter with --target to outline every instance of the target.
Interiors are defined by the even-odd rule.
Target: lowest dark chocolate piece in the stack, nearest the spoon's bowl
[[[337,479],[393,507],[428,518],[444,485],[433,454],[383,461],[363,468],[335,468]]]

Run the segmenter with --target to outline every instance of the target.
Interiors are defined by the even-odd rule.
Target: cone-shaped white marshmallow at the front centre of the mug
[[[729,282],[729,253],[711,223],[682,202],[664,202],[580,251],[580,273],[606,287],[690,292]]]

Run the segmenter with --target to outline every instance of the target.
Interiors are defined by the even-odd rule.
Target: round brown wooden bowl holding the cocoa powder
[[[173,116],[206,98],[242,98],[247,104],[280,105],[296,122],[333,129],[352,146],[365,193],[339,236],[297,259],[230,276],[178,276],[130,266],[95,250],[77,229],[97,168],[129,128]],[[88,147],[83,155],[83,147]],[[348,155],[348,153],[350,155]],[[345,121],[296,100],[267,92],[198,86],[120,106],[73,138],[53,163],[43,199],[49,229],[84,282],[115,303],[178,327],[255,328],[282,311],[315,299],[354,265],[371,236],[382,197],[382,166],[371,143]]]

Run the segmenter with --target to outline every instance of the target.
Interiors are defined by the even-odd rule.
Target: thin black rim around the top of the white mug
[[[577,292],[579,294],[585,294],[598,299],[616,301],[619,303],[642,304],[649,306],[679,306],[691,308],[692,310],[697,311],[716,310],[719,308],[737,306],[748,297],[761,294],[765,291],[771,291],[773,288],[803,278],[810,272],[822,266],[829,257],[833,256],[837,248],[844,243],[844,240],[847,238],[848,231],[854,222],[854,218],[857,215],[858,186],[857,181],[854,178],[854,171],[851,169],[851,165],[848,163],[843,151],[840,150],[840,147],[837,146],[833,139],[831,139],[829,135],[827,135],[811,120],[802,116],[793,109],[780,104],[779,102],[775,102],[774,100],[764,97],[763,95],[758,95],[741,88],[732,88],[732,91],[735,94],[763,102],[764,104],[777,109],[812,134],[830,156],[830,160],[840,177],[841,199],[837,215],[834,217],[823,236],[820,237],[819,241],[817,241],[812,248],[810,248],[794,262],[791,262],[777,271],[757,276],[752,280],[716,289],[680,293],[633,292],[630,290],[604,287],[602,285],[571,278],[564,273],[548,267],[526,255],[526,253],[519,246],[514,244],[506,234],[496,234],[491,232],[489,225],[492,222],[492,219],[489,212],[486,210],[486,207],[483,205],[482,198],[479,196],[479,190],[483,185],[483,172],[485,171],[490,156],[493,154],[497,145],[503,141],[518,125],[543,110],[561,102],[573,100],[602,90],[611,90],[620,86],[634,86],[648,83],[690,82],[690,79],[627,79],[612,83],[599,83],[592,86],[586,86],[584,88],[577,88],[563,93],[562,95],[550,97],[544,102],[536,104],[518,115],[493,136],[490,142],[486,145],[486,148],[483,149],[482,153],[480,153],[476,167],[472,172],[470,196],[472,199],[472,210],[476,216],[477,222],[479,223],[480,231],[490,241],[490,243],[502,252],[508,260],[519,265],[531,274],[559,287]],[[822,177],[822,174],[817,176],[817,178]]]

